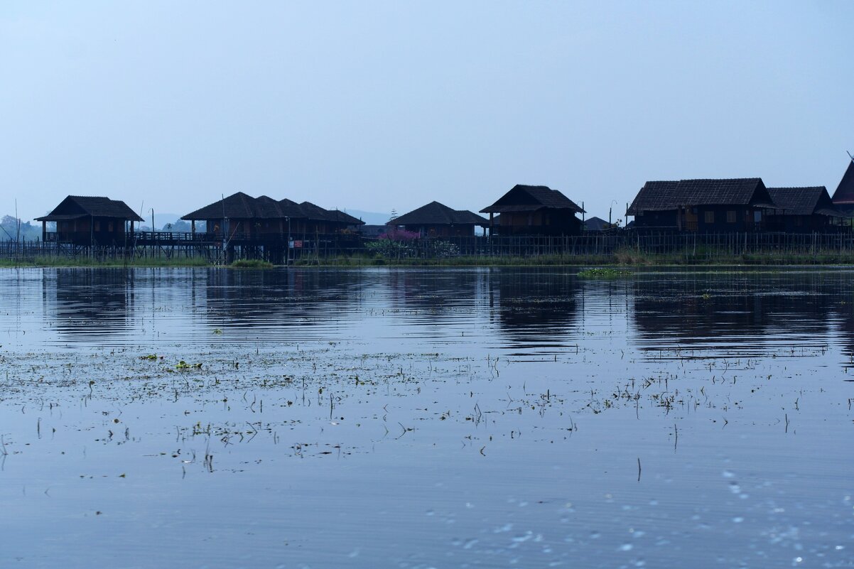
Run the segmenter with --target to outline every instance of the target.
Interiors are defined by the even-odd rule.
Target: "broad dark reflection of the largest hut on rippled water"
[[[827,273],[660,274],[635,280],[636,340],[652,357],[768,355],[770,335],[815,348],[828,333]]]

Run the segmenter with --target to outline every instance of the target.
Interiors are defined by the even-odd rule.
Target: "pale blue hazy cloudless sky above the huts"
[[[0,5],[0,214],[67,194],[477,211],[549,185],[827,185],[854,152],[854,2]],[[144,202],[144,206],[143,206]]]

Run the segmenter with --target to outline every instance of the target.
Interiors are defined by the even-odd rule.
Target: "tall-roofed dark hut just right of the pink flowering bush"
[[[491,235],[579,235],[582,220],[576,214],[584,210],[576,202],[545,185],[515,185],[491,206],[481,209],[489,214]],[[495,224],[494,214],[500,214]]]

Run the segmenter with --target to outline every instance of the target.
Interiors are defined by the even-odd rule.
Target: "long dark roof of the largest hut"
[[[775,207],[761,178],[681,179],[646,182],[627,214],[698,205]]]

